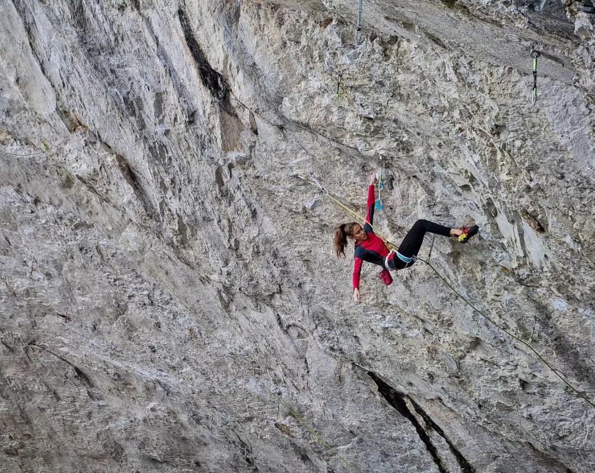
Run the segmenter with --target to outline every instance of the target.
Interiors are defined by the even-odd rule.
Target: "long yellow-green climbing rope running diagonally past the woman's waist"
[[[388,247],[389,251],[396,251],[397,250],[397,246],[393,243],[388,241],[384,235],[380,234],[380,233],[376,233],[376,231],[374,230],[374,227],[372,224],[370,224],[370,222],[368,222],[366,219],[362,218],[362,216],[359,215],[359,213],[353,211],[352,209],[350,209],[349,207],[347,207],[341,200],[340,198],[337,198],[336,196],[333,196],[333,194],[331,194],[330,192],[328,192],[328,190],[325,187],[322,187],[322,185],[320,185],[320,182],[318,182],[318,180],[312,176],[313,181],[315,182],[315,184],[317,185],[317,187],[320,188],[320,190],[322,191],[322,193],[325,196],[328,196],[328,198],[330,198],[335,204],[337,204],[338,207],[340,207],[341,209],[343,209],[344,211],[346,211],[347,213],[349,213],[351,216],[354,216],[355,218],[359,219],[359,221],[361,222],[366,222],[366,224],[370,225],[370,228],[374,231],[375,235],[377,235],[378,238],[380,238],[384,244],[386,244],[386,246]],[[430,250],[431,251],[431,250]],[[401,261],[406,262],[406,260],[403,259],[403,255],[399,255],[399,252],[397,251],[397,256],[399,257],[399,259]],[[407,258],[406,256],[404,258]],[[559,377],[559,379],[561,379],[561,381],[563,381],[563,383],[565,383],[566,386],[568,386],[568,388],[570,388],[570,390],[572,390],[572,392],[576,393],[576,395],[578,395],[579,397],[582,397],[588,404],[589,406],[592,406],[595,408],[595,403],[594,401],[592,401],[591,399],[589,399],[589,397],[587,397],[587,395],[584,392],[579,391],[577,388],[575,388],[572,383],[570,383],[570,381],[568,381],[565,377],[565,375],[560,371],[557,370],[556,368],[554,368],[554,366],[552,366],[552,364],[550,364],[549,361],[547,361],[547,359],[545,359],[543,357],[543,355],[541,355],[541,353],[539,353],[535,348],[533,348],[531,341],[532,341],[532,337],[530,337],[529,341],[525,341],[523,340],[521,337],[514,335],[514,333],[510,332],[509,330],[507,330],[506,328],[504,328],[503,326],[499,325],[497,322],[494,321],[494,319],[492,319],[492,317],[490,317],[489,315],[486,315],[485,313],[483,313],[482,311],[479,310],[479,308],[475,307],[473,304],[471,304],[471,302],[468,301],[468,299],[463,296],[461,293],[459,293],[459,291],[457,291],[457,289],[455,289],[454,286],[452,286],[452,284],[450,284],[450,282],[448,282],[446,280],[445,277],[443,277],[438,271],[437,269],[435,269],[434,266],[432,266],[432,264],[429,261],[429,257],[428,260],[424,260],[424,258],[421,258],[419,256],[413,256],[410,259],[410,262],[415,262],[415,261],[421,261],[426,263],[428,266],[430,266],[430,269],[432,269],[432,271],[434,271],[434,273],[436,273],[436,275],[442,280],[442,282],[444,284],[446,284],[446,286],[448,286],[450,288],[450,290],[455,293],[458,297],[460,297],[463,302],[465,302],[468,306],[470,306],[470,308],[473,309],[474,312],[477,312],[479,315],[481,315],[481,317],[483,317],[484,319],[486,319],[488,322],[490,322],[490,324],[492,324],[493,326],[496,326],[497,328],[499,328],[500,330],[503,331],[503,333],[505,333],[506,335],[508,335],[510,338],[518,341],[520,344],[523,344],[524,346],[526,346],[529,350],[531,350],[536,357],[538,357],[541,362],[547,366],[547,368],[550,368],[550,370],[554,373],[554,375],[556,375],[557,377]],[[407,266],[409,265],[410,262],[406,262]],[[385,260],[385,265],[386,265],[387,261]],[[406,266],[406,267],[407,267]]]

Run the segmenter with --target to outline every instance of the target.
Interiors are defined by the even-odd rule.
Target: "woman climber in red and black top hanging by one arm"
[[[461,229],[449,229],[428,220],[417,220],[408,231],[403,242],[401,242],[399,249],[389,251],[384,241],[375,235],[372,228],[375,204],[374,186],[376,183],[376,174],[372,174],[368,186],[368,213],[366,214],[364,227],[356,222],[344,223],[337,228],[333,238],[337,257],[345,256],[344,249],[347,245],[347,237],[355,240],[355,264],[353,267],[353,300],[355,302],[359,302],[359,274],[362,271],[362,262],[367,261],[382,266],[379,277],[388,286],[393,282],[390,271],[404,269],[415,263],[415,256],[421,248],[421,243],[424,242],[426,232],[446,237],[457,237],[459,242],[466,243],[479,231],[477,225],[462,227]]]

